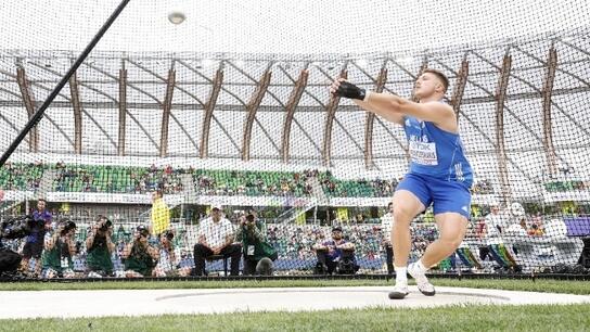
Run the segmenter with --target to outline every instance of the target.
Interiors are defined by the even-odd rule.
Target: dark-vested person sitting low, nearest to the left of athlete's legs
[[[318,256],[318,274],[354,274],[359,269],[355,258],[355,244],[343,239],[339,226],[332,229],[332,240],[315,245],[313,250]]]

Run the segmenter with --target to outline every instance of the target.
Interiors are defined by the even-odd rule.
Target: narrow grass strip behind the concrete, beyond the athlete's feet
[[[432,279],[435,285],[511,291],[590,294],[590,281],[537,279]],[[4,282],[0,291],[55,290],[156,290],[392,285],[385,280],[207,280],[207,281],[99,281],[99,282]]]

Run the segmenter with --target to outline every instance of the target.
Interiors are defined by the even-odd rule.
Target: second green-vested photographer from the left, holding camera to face
[[[104,216],[100,216],[92,226],[92,230],[86,239],[88,256],[86,265],[88,277],[102,278],[113,274],[113,261],[111,254],[115,250],[113,243],[113,222]]]

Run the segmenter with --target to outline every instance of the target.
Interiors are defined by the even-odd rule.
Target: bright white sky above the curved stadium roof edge
[[[118,2],[2,0],[0,49],[81,50]],[[588,13],[586,0],[131,0],[97,49],[398,52],[587,27]]]

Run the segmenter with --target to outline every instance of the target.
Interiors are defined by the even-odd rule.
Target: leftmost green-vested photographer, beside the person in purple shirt
[[[74,278],[72,257],[76,254],[76,224],[64,219],[55,233],[46,241],[43,253],[43,278]]]

